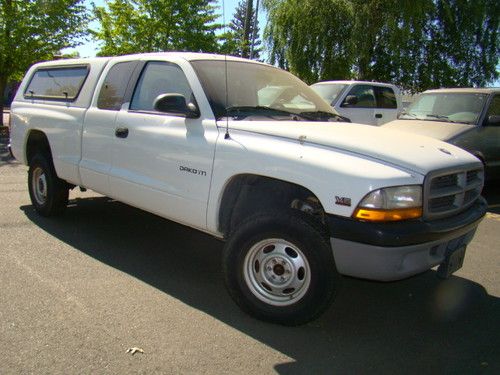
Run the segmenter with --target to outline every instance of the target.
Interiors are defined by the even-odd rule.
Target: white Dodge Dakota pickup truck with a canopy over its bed
[[[339,122],[292,74],[244,59],[40,63],[11,108],[41,215],[62,213],[80,186],[223,239],[229,293],[267,321],[316,318],[339,274],[447,277],[486,212],[471,154]]]

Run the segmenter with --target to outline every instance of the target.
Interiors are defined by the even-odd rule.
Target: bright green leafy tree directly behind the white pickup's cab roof
[[[102,43],[99,55],[140,52],[218,51],[213,0],[113,0],[94,6]]]

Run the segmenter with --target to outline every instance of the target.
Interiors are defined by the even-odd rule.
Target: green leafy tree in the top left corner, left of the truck
[[[0,113],[8,81],[78,45],[88,21],[83,0],[0,0]],[[0,125],[3,125],[0,116]]]

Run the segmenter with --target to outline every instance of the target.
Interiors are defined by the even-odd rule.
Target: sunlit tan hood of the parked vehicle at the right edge
[[[457,124],[446,121],[394,120],[382,126],[387,129],[401,130],[447,141],[460,133],[470,130],[475,125]]]

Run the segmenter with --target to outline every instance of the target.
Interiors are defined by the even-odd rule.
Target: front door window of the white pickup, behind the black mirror
[[[168,62],[149,62],[137,82],[130,109],[154,111],[153,102],[161,94],[182,94],[189,102],[193,91],[179,66]]]

